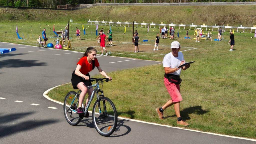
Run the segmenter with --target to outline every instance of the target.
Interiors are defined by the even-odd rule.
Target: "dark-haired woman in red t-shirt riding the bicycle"
[[[84,101],[84,97],[88,92],[88,98],[86,99],[86,106],[88,104],[88,101],[91,97],[93,89],[88,89],[88,86],[91,86],[92,83],[89,81],[90,75],[89,72],[92,71],[95,67],[98,68],[100,74],[105,76],[106,78],[109,78],[110,80],[112,77],[108,76],[100,67],[99,61],[96,58],[97,50],[93,47],[88,47],[86,52],[83,54],[82,58],[77,63],[76,70],[73,71],[72,77],[71,77],[71,83],[74,89],[80,89],[81,94],[79,97],[79,106],[77,109],[77,114],[82,114],[82,103]]]

